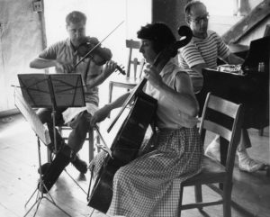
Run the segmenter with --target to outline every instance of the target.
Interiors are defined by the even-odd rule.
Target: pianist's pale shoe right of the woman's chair
[[[255,159],[249,158],[247,151],[238,151],[238,167],[242,171],[248,173],[256,172],[265,167],[265,164],[258,162]]]

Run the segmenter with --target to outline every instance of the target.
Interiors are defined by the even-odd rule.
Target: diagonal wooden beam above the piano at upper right
[[[270,14],[270,0],[264,0],[255,7],[250,14],[247,14],[238,23],[225,32],[221,38],[227,44],[238,42],[244,35],[253,29],[258,23]]]

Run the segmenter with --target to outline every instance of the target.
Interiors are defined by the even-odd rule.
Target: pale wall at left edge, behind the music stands
[[[39,14],[31,0],[0,0],[0,113],[14,109],[17,74],[31,73],[29,61],[41,50]]]

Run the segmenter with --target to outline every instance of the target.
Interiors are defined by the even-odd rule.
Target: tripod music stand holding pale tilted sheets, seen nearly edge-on
[[[33,203],[31,205],[31,208],[23,215],[23,217],[25,217],[26,215],[28,215],[28,213],[31,212],[31,210],[34,208],[34,206],[37,205],[36,211],[34,212],[34,215],[33,215],[33,216],[35,216],[36,213],[38,212],[38,209],[39,209],[41,200],[43,198],[44,199],[47,199],[49,201],[49,203],[52,203],[60,211],[66,213],[67,216],[70,216],[61,207],[59,207],[57,203],[55,203],[55,201],[53,200],[53,198],[49,194],[49,192],[47,193],[49,195],[49,197],[48,197],[47,195],[43,194],[43,192],[38,191],[40,185],[42,185],[42,187],[45,187],[46,188],[46,186],[43,184],[43,181],[42,181],[42,178],[41,178],[41,174],[42,173],[41,173],[41,158],[40,158],[40,140],[45,145],[48,145],[49,142],[50,142],[49,131],[44,127],[44,125],[42,124],[42,122],[40,122],[40,118],[38,117],[38,115],[31,109],[31,106],[25,102],[25,100],[23,99],[23,95],[21,95],[17,91],[16,88],[14,89],[14,104],[19,109],[19,111],[23,114],[23,117],[26,119],[26,121],[30,123],[31,129],[35,132],[35,134],[37,136],[38,156],[39,156],[39,168],[40,168],[39,185],[36,187],[35,191],[31,194],[31,197],[28,199],[28,201],[25,203],[24,206],[25,207],[27,206],[27,204],[31,201],[32,196],[37,192],[36,201],[35,201],[35,203]]]

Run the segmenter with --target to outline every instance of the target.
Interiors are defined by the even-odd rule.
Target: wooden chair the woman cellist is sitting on
[[[225,118],[227,117],[227,118]],[[221,121],[220,121],[221,120]],[[218,96],[207,95],[200,125],[202,141],[208,131],[220,135],[220,149],[224,147],[225,153],[221,153],[221,158],[225,158],[222,165],[219,161],[203,156],[202,172],[196,176],[188,178],[180,186],[179,216],[181,211],[198,208],[202,210],[204,206],[223,204],[223,216],[230,217],[232,174],[235,161],[236,149],[240,136],[240,126],[242,120],[242,105],[234,104]],[[230,125],[228,127],[228,125]],[[226,142],[227,141],[227,142]],[[229,143],[229,146],[228,146]],[[223,147],[223,148],[222,148]],[[227,152],[227,153],[226,153]],[[221,184],[220,187],[214,184]],[[208,185],[212,190],[221,195],[220,200],[212,202],[202,202],[202,185]],[[194,186],[195,203],[182,204],[184,186]]]

